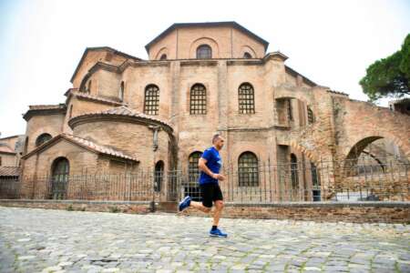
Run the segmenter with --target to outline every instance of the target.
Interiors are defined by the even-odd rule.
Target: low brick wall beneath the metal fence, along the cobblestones
[[[87,211],[149,213],[150,202],[73,201],[73,200],[0,200],[4,207],[41,207]],[[176,212],[176,203],[157,203],[157,212]],[[194,209],[187,209],[182,216],[210,217]],[[409,202],[357,202],[357,203],[283,203],[283,204],[225,204],[222,217],[273,218],[313,220],[317,222],[354,223],[410,223]],[[221,220],[223,221],[223,219]]]

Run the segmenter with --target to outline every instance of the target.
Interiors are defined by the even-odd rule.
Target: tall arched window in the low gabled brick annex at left
[[[58,157],[52,165],[51,197],[63,199],[67,195],[68,174],[70,172],[69,162],[66,157]]]

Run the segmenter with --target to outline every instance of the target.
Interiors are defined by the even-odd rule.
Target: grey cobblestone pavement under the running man
[[[410,226],[0,207],[0,272],[410,272]]]

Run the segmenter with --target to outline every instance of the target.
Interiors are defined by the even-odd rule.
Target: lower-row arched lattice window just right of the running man
[[[240,187],[259,186],[258,157],[251,152],[244,152],[238,159],[238,177]]]

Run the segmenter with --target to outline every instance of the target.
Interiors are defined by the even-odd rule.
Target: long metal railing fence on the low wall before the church
[[[408,160],[269,163],[226,166],[224,200],[235,203],[410,200]],[[177,201],[200,200],[198,169],[126,174],[82,173],[0,177],[0,198]]]

